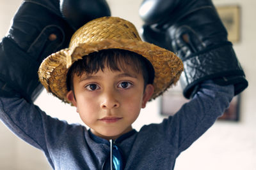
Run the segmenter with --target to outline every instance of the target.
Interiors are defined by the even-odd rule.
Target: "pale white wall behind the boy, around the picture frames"
[[[138,8],[142,0],[108,0],[113,16],[130,20],[139,29],[142,22],[138,17]],[[8,30],[10,20],[19,7],[21,0],[0,0],[0,36]],[[215,0],[216,4],[241,5],[241,41],[234,45],[247,79],[249,87],[242,94],[241,120],[239,122],[216,122],[198,141],[180,155],[175,166],[182,169],[256,169],[256,23],[253,0]],[[80,122],[74,108],[49,96],[45,91],[38,97],[36,104],[42,110],[68,122]],[[136,129],[143,124],[160,122],[159,101],[148,104],[134,123]],[[0,123],[0,169],[28,170],[51,169],[43,153],[15,137]]]

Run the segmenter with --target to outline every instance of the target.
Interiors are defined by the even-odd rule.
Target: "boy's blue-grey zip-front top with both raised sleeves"
[[[114,144],[122,150],[124,169],[173,169],[179,154],[214,124],[233,96],[233,85],[205,81],[173,117],[120,136]],[[109,141],[83,125],[49,117],[21,97],[0,96],[0,118],[19,138],[42,150],[52,169],[110,169]]]

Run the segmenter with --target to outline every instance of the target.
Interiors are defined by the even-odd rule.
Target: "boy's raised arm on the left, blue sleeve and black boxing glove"
[[[110,15],[105,1],[86,0],[79,4],[86,5],[90,11],[74,4],[81,18],[70,22],[77,15],[75,11],[68,13],[68,8],[74,8],[72,2],[23,1],[0,43],[0,120],[17,136],[44,150],[48,158],[49,142],[58,139],[56,135],[68,125],[47,116],[33,104],[42,91],[38,67],[45,57],[68,46],[77,25],[82,24],[79,22],[85,24],[93,18]]]

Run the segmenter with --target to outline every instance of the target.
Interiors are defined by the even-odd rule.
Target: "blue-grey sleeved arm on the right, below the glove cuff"
[[[178,153],[186,150],[224,113],[232,97],[234,85],[220,86],[211,80],[200,83],[193,99],[161,124],[166,140],[175,145]]]

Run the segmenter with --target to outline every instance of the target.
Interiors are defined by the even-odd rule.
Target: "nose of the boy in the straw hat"
[[[106,92],[106,94],[104,94],[102,97],[101,108],[102,109],[118,108],[120,106],[120,103],[116,98],[117,97],[113,92]]]

